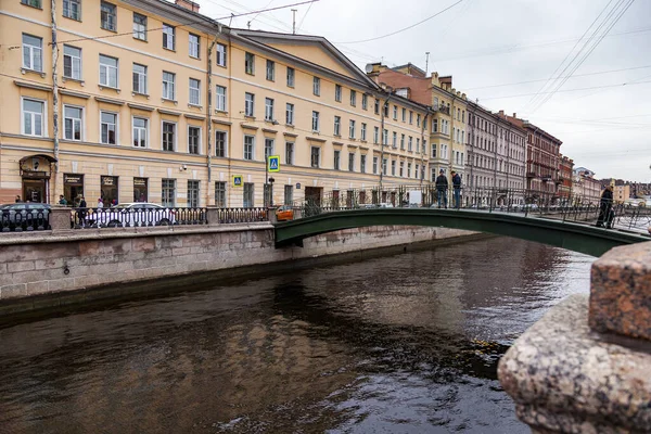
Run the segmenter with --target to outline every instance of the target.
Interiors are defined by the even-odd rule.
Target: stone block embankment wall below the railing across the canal
[[[42,294],[464,235],[472,232],[384,226],[332,232],[305,240],[304,247],[277,250],[269,224],[0,234],[0,305]]]

